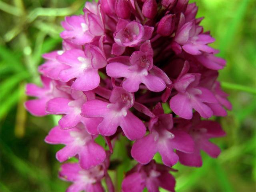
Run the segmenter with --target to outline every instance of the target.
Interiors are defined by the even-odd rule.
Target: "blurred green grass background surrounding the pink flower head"
[[[256,1],[193,0],[199,6],[202,26],[210,30],[227,60],[220,71],[222,88],[230,94],[233,110],[216,118],[227,132],[214,140],[222,148],[218,159],[203,154],[202,168],[177,164],[177,191],[256,191]],[[61,47],[60,21],[82,12],[84,0],[0,0],[0,191],[64,191],[58,179],[60,163],[55,152],[62,146],[44,142],[56,120],[30,115],[23,107],[27,82],[40,84],[41,55]],[[128,170],[124,160],[114,177],[120,187]],[[158,159],[158,157],[156,157]],[[112,172],[112,175],[114,173]]]

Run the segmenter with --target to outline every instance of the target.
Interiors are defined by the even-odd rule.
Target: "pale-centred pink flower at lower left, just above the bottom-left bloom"
[[[78,154],[79,164],[88,169],[102,163],[106,158],[102,146],[94,142],[82,124],[68,130],[62,130],[59,126],[52,128],[45,142],[49,144],[65,144],[66,146],[56,153],[56,158],[64,162]]]

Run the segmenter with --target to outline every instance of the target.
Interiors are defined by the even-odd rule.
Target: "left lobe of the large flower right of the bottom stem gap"
[[[132,157],[141,164],[148,164],[156,152],[156,142],[154,141],[154,135],[152,134],[148,134],[147,136],[136,140],[132,145],[131,150]]]

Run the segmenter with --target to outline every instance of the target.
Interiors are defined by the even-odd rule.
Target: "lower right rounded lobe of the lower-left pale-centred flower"
[[[84,169],[102,163],[106,158],[106,152],[102,146],[90,141],[79,152],[79,163]]]

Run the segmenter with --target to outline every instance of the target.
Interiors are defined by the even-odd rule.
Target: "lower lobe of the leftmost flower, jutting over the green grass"
[[[34,116],[44,116],[47,115],[46,102],[48,102],[47,98],[28,100],[25,102],[25,108]]]

